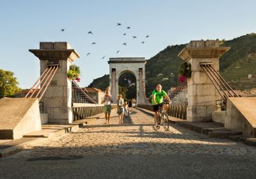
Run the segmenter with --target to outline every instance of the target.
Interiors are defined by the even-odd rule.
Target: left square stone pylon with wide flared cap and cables
[[[29,49],[40,59],[40,75],[49,66],[58,66],[42,97],[49,123],[72,123],[72,81],[67,72],[79,54],[67,42],[40,42],[40,49]]]

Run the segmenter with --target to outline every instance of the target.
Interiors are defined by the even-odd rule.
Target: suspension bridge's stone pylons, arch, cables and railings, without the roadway
[[[214,121],[212,113],[216,111],[216,101],[222,100],[227,111],[223,117],[225,128],[255,137],[256,119],[251,107],[256,104],[255,98],[237,95],[219,73],[219,58],[228,49],[214,40],[188,43],[179,56],[191,64],[191,78],[170,94],[173,99],[186,89],[188,104],[170,105],[167,113],[188,122]],[[3,111],[0,138],[17,139],[41,130],[39,102],[44,103],[49,123],[72,123],[104,112],[102,104],[90,98],[76,81],[68,79],[68,68],[79,54],[67,42],[40,42],[40,49],[29,51],[40,59],[41,75],[24,98],[0,100]],[[137,106],[152,111],[145,93],[145,58],[109,58],[108,63],[114,104],[120,75],[131,72],[136,77]]]

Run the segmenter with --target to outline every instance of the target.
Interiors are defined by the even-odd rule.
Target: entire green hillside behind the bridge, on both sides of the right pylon
[[[255,88],[256,34],[224,40],[221,46],[230,47],[230,50],[220,58],[220,72],[224,79],[234,89]],[[170,89],[171,86],[177,86],[179,65],[182,62],[178,54],[184,47],[186,44],[168,46],[147,60],[145,67],[147,96],[158,83],[163,84],[164,90]],[[248,79],[248,74],[252,74],[251,79]],[[106,76],[108,75],[93,80],[90,86],[106,88],[106,85],[109,84],[109,76]]]

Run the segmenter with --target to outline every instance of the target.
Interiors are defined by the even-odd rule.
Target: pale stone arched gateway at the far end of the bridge
[[[116,102],[118,95],[118,79],[125,72],[130,72],[136,78],[136,102],[147,103],[145,95],[145,58],[109,58],[109,86]]]

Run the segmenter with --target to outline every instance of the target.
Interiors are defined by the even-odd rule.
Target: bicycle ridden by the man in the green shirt
[[[163,102],[162,105],[159,105],[159,109],[158,109],[158,126],[156,126],[157,129],[160,128],[161,123],[163,124],[164,130],[167,131],[169,129],[169,119],[168,119],[168,114],[166,113],[166,111],[164,111],[164,105],[166,105],[168,103]]]

